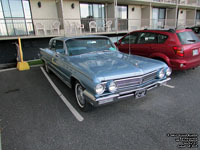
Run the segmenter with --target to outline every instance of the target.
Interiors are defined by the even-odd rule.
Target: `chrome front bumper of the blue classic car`
[[[159,86],[166,84],[167,81],[169,81],[169,80],[171,80],[171,78],[167,78],[167,79],[162,80],[162,81],[157,81],[157,82],[154,82],[152,84],[146,85],[146,86],[141,87],[141,88],[135,88],[135,89],[132,89],[132,90],[123,91],[123,92],[119,92],[117,94],[112,94],[112,95],[104,96],[104,97],[100,97],[100,98],[95,98],[91,93],[89,93],[88,91],[85,90],[84,91],[84,97],[93,106],[99,106],[99,105],[118,101],[122,98],[134,96],[136,91],[140,91],[140,90],[149,91],[151,89],[154,89],[156,87],[159,87]]]

